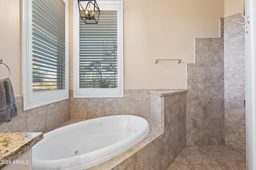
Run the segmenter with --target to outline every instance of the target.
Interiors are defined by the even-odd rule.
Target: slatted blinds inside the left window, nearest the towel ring
[[[65,89],[65,3],[32,0],[33,91]]]

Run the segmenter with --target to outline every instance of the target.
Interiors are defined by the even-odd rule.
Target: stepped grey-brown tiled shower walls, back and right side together
[[[187,145],[246,150],[245,36],[240,14],[220,19],[220,38],[196,38],[187,65]]]

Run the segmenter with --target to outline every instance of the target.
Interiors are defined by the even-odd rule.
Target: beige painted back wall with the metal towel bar
[[[124,0],[125,89],[186,88],[186,63],[194,63],[194,37],[219,37],[223,0],[156,2]],[[182,63],[155,64],[155,59]]]

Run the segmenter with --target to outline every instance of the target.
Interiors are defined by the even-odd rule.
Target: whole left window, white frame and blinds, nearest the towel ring
[[[22,96],[28,110],[68,99],[68,0],[22,0]]]

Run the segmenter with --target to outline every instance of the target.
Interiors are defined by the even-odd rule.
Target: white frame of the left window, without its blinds
[[[32,0],[22,0],[22,95],[23,110],[68,99],[68,0],[65,2],[65,89],[33,92],[32,87]]]

